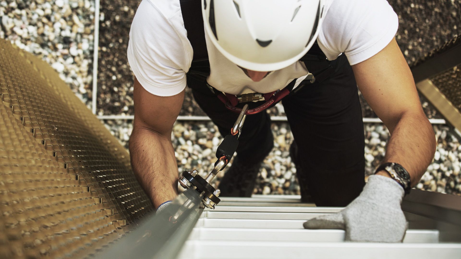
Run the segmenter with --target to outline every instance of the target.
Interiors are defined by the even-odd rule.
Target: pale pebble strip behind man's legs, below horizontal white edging
[[[105,123],[122,145],[128,148],[132,122],[110,120],[105,121]],[[461,195],[460,143],[450,133],[448,126],[434,125],[434,131],[437,137],[435,159],[416,188]],[[254,193],[299,194],[296,168],[289,155],[290,143],[293,140],[289,125],[287,123],[273,123],[272,132],[275,147],[264,160]],[[389,132],[382,124],[365,124],[365,137],[365,176],[369,176],[384,158],[384,146],[385,141],[389,138]],[[206,177],[213,169],[216,161],[214,153],[222,140],[213,123],[176,123],[171,139],[175,147],[178,172],[197,169],[203,177]],[[218,174],[215,180],[216,184],[219,183],[223,175],[224,172]]]

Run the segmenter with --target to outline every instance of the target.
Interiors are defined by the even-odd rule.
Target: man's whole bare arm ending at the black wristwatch
[[[416,185],[434,157],[436,141],[396,40],[352,68],[361,93],[390,131],[384,162],[401,164]]]

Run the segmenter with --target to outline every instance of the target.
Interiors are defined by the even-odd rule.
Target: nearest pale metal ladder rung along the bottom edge
[[[211,248],[212,247],[212,248]],[[229,255],[232,254],[232,257]],[[330,243],[330,242],[247,242],[247,241],[187,241],[181,259],[216,258],[460,258],[461,244],[389,244],[389,243]]]

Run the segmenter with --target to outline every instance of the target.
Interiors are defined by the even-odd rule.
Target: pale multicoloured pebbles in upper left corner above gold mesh
[[[1,0],[0,38],[45,60],[91,107],[94,15],[94,0]]]

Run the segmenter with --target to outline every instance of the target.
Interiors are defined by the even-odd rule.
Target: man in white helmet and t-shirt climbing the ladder
[[[136,76],[131,161],[154,206],[160,208],[177,195],[171,129],[196,51],[188,38],[195,32],[186,31],[183,20],[191,10],[181,10],[182,3],[143,0],[128,47]],[[351,241],[402,241],[406,223],[402,198],[431,162],[435,137],[394,39],[398,19],[387,1],[204,0],[201,4],[210,74],[206,82],[187,77],[187,85],[221,134],[228,134],[237,117],[229,111],[236,105],[234,95],[291,90],[282,104],[295,138],[291,151],[301,196],[308,192],[317,206],[347,206],[304,226],[345,229]],[[330,75],[322,74],[327,69],[315,62],[301,61],[315,46],[332,60],[318,60],[328,62]],[[309,72],[315,81],[306,79]],[[366,185],[357,86],[391,133],[384,164]],[[229,98],[227,107],[218,98],[220,92]],[[247,117],[236,161],[219,186],[223,196],[251,195],[260,162],[272,149],[269,125],[266,112]]]

